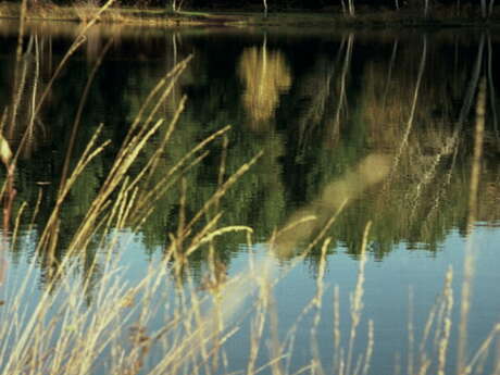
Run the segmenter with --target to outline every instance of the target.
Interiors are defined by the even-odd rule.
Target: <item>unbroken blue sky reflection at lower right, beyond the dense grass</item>
[[[476,229],[478,249],[475,276],[473,282],[473,301],[470,314],[470,348],[476,350],[482,340],[500,318],[500,288],[498,250],[500,234],[497,229],[478,227]],[[442,291],[448,267],[453,267],[454,314],[451,352],[458,341],[459,299],[461,275],[463,271],[465,240],[458,233],[452,233],[441,245],[440,251],[407,251],[404,243],[388,254],[383,262],[368,257],[365,268],[365,293],[362,323],[358,333],[358,349],[365,350],[367,320],[375,323],[375,351],[372,360],[374,374],[393,373],[395,355],[399,353],[402,368],[405,367],[408,348],[408,316],[410,289],[413,295],[413,316],[415,327],[415,348],[418,348],[423,327],[437,296]],[[347,342],[349,328],[349,293],[357,282],[359,262],[346,254],[345,249],[328,255],[325,275],[325,296],[323,299],[322,323],[318,329],[318,342],[322,348],[325,366],[332,363],[333,353],[333,299],[334,286],[340,287],[340,315],[343,345]],[[239,255],[234,262],[242,267],[246,257]],[[278,305],[279,326],[290,327],[302,309],[310,302],[315,291],[315,271],[308,263],[299,264],[275,289]],[[310,360],[310,327],[312,314],[307,318],[297,336],[297,350],[293,361],[297,366],[305,365]],[[238,346],[239,347],[239,346]],[[229,346],[229,348],[232,348]],[[241,358],[237,353],[229,358]],[[450,357],[452,359],[452,357]],[[416,361],[416,359],[415,359]],[[453,365],[449,360],[448,365]],[[297,368],[296,368],[297,370]]]

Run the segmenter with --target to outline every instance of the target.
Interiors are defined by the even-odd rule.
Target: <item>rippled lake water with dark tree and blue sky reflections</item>
[[[7,304],[26,274],[32,290],[27,304],[35,304],[52,282],[54,264],[72,243],[141,103],[168,71],[192,54],[171,95],[158,101],[154,118],[170,122],[183,96],[187,98],[159,163],[168,171],[195,145],[226,125],[230,129],[208,145],[207,154],[198,152],[200,159],[193,165],[184,166],[183,178],[154,201],[147,217],[146,211],[134,207],[140,217],[130,216],[116,228],[116,257],[126,268],[128,285],[159,264],[179,226],[196,217],[217,187],[263,151],[191,229],[203,230],[217,212],[222,216],[210,232],[238,227],[217,236],[211,247],[193,251],[184,270],[188,276],[180,278],[191,280],[201,295],[208,293],[211,265],[215,264],[214,277],[222,283],[245,275],[251,258],[267,270],[268,282],[279,279],[273,290],[274,313],[270,312],[270,320],[277,317],[277,324],[264,328],[257,367],[268,361],[273,329],[282,342],[291,342],[287,333],[300,317],[291,335],[290,355],[282,360],[284,371],[295,374],[316,358],[325,373],[336,372],[335,322],[339,323],[342,355],[347,355],[350,295],[357,290],[360,266],[364,267],[364,308],[349,373],[355,373],[358,355],[370,347],[370,321],[375,343],[367,373],[413,374],[417,371],[412,371],[412,363],[422,368],[418,348],[425,324],[433,307],[440,307],[450,267],[453,307],[446,370],[454,371],[466,254],[475,260],[467,361],[500,322],[500,105],[496,97],[500,47],[495,33],[99,25],[88,32],[85,43],[64,65],[34,120],[37,100],[79,29],[65,24],[28,25],[16,61],[16,27],[0,23],[3,135],[14,151],[21,147],[14,177],[9,182],[5,173],[1,176],[7,191],[16,190],[15,197],[9,199],[7,192],[3,199],[1,292]],[[87,79],[100,59],[83,102]],[[477,201],[471,208],[482,82],[486,123]],[[80,103],[82,120],[75,127]],[[99,139],[111,143],[89,163],[68,193],[59,215],[58,241],[38,249],[55,204],[72,132],[76,128],[70,173],[100,124]],[[159,145],[162,136],[153,136],[130,167],[130,176],[141,171]],[[161,177],[157,172],[148,178],[159,182]],[[110,201],[118,199],[116,191],[109,196]],[[139,223],[142,215],[146,220]],[[252,228],[252,245],[243,226]],[[96,238],[98,234],[99,228]],[[315,239],[315,246],[302,257]],[[90,266],[105,258],[101,245],[91,237],[82,246],[84,250],[72,255],[78,265],[67,277],[103,277],[103,268],[95,272]],[[323,265],[323,302],[303,313],[316,295]],[[253,292],[245,287],[236,290],[248,295],[250,302],[245,303],[251,303]],[[91,290],[86,292],[91,305],[97,297]],[[227,363],[214,373],[247,370],[255,327],[249,327],[249,316],[238,314],[228,320],[242,321],[241,329],[225,348]],[[160,323],[153,317],[151,329],[155,324]],[[436,353],[433,335],[439,338],[441,334],[430,334],[430,343],[425,345],[429,352]],[[499,350],[498,342],[492,345],[485,360],[486,373],[498,374]],[[412,358],[409,352],[416,354]],[[151,354],[151,366],[160,355]],[[433,361],[428,373],[437,372],[437,360]],[[103,368],[95,371],[105,373]],[[267,366],[263,373],[272,368],[277,371]],[[314,373],[321,374],[318,367]]]

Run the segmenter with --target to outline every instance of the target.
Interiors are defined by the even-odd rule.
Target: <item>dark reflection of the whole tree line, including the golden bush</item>
[[[62,257],[85,216],[146,95],[190,52],[195,60],[155,114],[155,120],[168,122],[183,96],[188,96],[186,111],[159,163],[167,170],[196,142],[226,124],[234,126],[227,139],[214,141],[210,153],[200,155],[201,167],[190,170],[184,185],[174,184],[157,202],[157,210],[138,229],[146,252],[168,248],[168,234],[178,233],[179,214],[192,218],[217,186],[261,150],[264,158],[221,200],[218,208],[224,215],[220,227],[249,225],[258,240],[267,240],[296,222],[297,215],[320,217],[313,226],[304,224],[293,232],[297,238],[290,237],[284,248],[295,248],[321,232],[347,195],[352,199],[325,234],[334,239],[329,251],[346,246],[355,257],[370,218],[374,223],[372,251],[378,260],[400,242],[410,248],[425,243],[427,249],[436,250],[451,230],[465,230],[470,132],[480,76],[488,82],[489,107],[478,221],[495,223],[500,218],[495,204],[499,190],[498,77],[492,71],[498,47],[490,35],[312,36],[126,28],[114,33],[99,28],[64,68],[40,115],[30,121],[33,98],[39,96],[75,33],[48,33],[37,27],[29,29],[18,61],[13,54],[14,34],[4,34],[3,46],[10,52],[1,57],[8,68],[0,73],[0,80],[17,87],[13,89],[16,92],[21,86],[13,77],[20,72],[17,76],[23,79],[18,82],[25,85],[18,101],[22,110],[8,117],[4,132],[17,148],[15,139],[21,139],[29,126],[33,128],[15,175],[20,192],[14,207],[18,210],[26,201],[35,208],[41,191],[39,228],[47,224],[57,199],[70,136],[67,125],[75,118],[86,79],[101,52],[99,46],[114,37],[90,86],[73,158],[82,154],[100,123],[105,124],[102,138],[111,139],[112,145],[84,171],[72,190],[71,204],[62,209],[63,236],[55,258]],[[12,108],[11,100],[2,93],[0,105]],[[248,132],[245,125],[257,132]],[[152,141],[146,147],[139,165],[146,163],[157,145]],[[368,163],[370,172],[382,176],[373,184],[353,172],[360,171],[359,165],[371,155],[384,155],[383,162]],[[335,182],[343,176],[351,176],[351,182],[340,188],[346,193],[332,192],[338,188]],[[149,178],[154,183],[162,175]],[[40,187],[37,182],[52,184]],[[214,215],[209,211],[199,225]],[[240,249],[241,235],[214,241],[217,261],[227,267]],[[90,259],[96,249],[98,243],[91,242]],[[190,264],[200,266],[207,254],[197,252],[192,258]]]

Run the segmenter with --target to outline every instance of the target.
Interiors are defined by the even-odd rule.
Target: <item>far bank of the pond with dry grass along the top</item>
[[[18,18],[21,4],[0,3],[0,20]],[[273,10],[267,13],[255,9],[182,10],[173,12],[164,8],[124,8],[112,4],[104,12],[90,2],[73,7],[60,7],[39,2],[28,7],[26,17],[30,21],[88,23],[98,22],[143,26],[297,26],[297,27],[498,27],[500,16],[493,11],[487,20],[479,11],[457,13],[455,9],[429,9],[427,14],[418,9],[361,8],[355,16],[343,14],[340,7],[322,11]]]

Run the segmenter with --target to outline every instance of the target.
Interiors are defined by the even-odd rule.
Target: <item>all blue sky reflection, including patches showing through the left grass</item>
[[[473,283],[473,303],[470,318],[470,348],[476,349],[482,340],[491,330],[492,325],[500,318],[500,288],[498,273],[498,243],[500,234],[497,228],[476,227],[475,248],[478,250]],[[21,237],[23,240],[23,236]],[[243,245],[241,245],[245,248]],[[410,289],[413,296],[413,316],[415,327],[415,347],[418,347],[423,326],[428,312],[441,292],[445,275],[448,267],[453,267],[454,288],[454,314],[453,334],[451,337],[451,351],[457,342],[458,311],[460,298],[460,285],[463,267],[465,239],[457,232],[451,233],[441,243],[439,250],[430,253],[425,250],[408,251],[404,243],[396,247],[396,250],[387,254],[384,261],[375,261],[368,251],[365,268],[364,284],[364,311],[358,332],[357,347],[364,351],[366,346],[367,320],[375,323],[375,352],[372,361],[373,373],[392,373],[395,355],[400,354],[402,368],[405,368],[408,348],[408,316]],[[145,254],[143,246],[139,236],[130,233],[122,233],[112,257],[116,257],[118,266],[122,268],[121,277],[124,277],[124,286],[135,286],[146,275],[148,267],[158,267],[161,264],[157,254]],[[253,249],[254,264],[267,265],[271,273],[277,275],[280,282],[274,289],[274,298],[277,303],[279,316],[279,329],[283,335],[289,329],[304,307],[315,293],[316,270],[311,270],[308,260],[299,262],[291,267],[293,261],[279,261],[270,255],[266,246],[255,245]],[[28,265],[24,252],[16,261],[9,260],[7,285],[0,292],[1,299],[9,301],[16,297],[20,283],[27,283],[27,301],[23,304],[27,316],[33,311],[32,303],[39,298],[38,267],[35,270]],[[105,254],[100,254],[105,257]],[[230,276],[245,275],[249,264],[249,253],[239,251],[234,254],[228,268]],[[9,257],[11,258],[11,257]],[[30,262],[32,263],[32,262]],[[33,263],[32,263],[33,265]],[[317,330],[317,337],[325,368],[332,363],[333,353],[333,300],[334,287],[340,288],[340,318],[342,345],[347,345],[349,329],[349,293],[353,291],[357,282],[359,261],[346,253],[346,249],[337,248],[334,254],[327,255],[327,268],[325,274],[325,295],[323,298],[322,322]],[[262,268],[257,270],[262,273]],[[26,275],[32,277],[26,279]],[[174,296],[174,285],[168,285],[170,291],[165,295]],[[254,291],[252,286],[247,285],[240,289],[241,296]],[[163,295],[162,295],[163,296]],[[160,296],[159,296],[160,297]],[[155,303],[166,301],[157,300]],[[245,316],[245,309],[236,309],[235,301],[227,301],[228,316],[233,321],[240,321]],[[248,302],[243,304],[248,307]],[[229,305],[233,304],[233,305]],[[310,360],[310,330],[313,313],[309,313],[296,336],[296,350],[293,352],[292,368],[305,365]],[[151,324],[161,324],[162,320],[152,320]],[[153,327],[152,327],[153,328]],[[249,337],[247,325],[234,336],[227,346],[230,370],[241,370],[246,364],[245,359],[249,353]],[[282,336],[283,338],[284,336]],[[265,346],[261,353],[266,355]],[[153,354],[154,355],[154,354]],[[451,358],[451,357],[450,357]],[[262,358],[262,361],[265,361]],[[264,362],[262,362],[264,363]],[[454,361],[448,361],[452,365]]]

